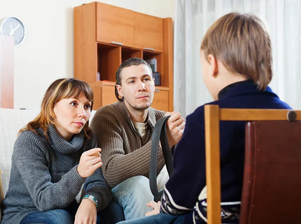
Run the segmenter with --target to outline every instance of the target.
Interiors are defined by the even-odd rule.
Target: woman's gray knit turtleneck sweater
[[[25,131],[16,140],[1,223],[17,224],[34,211],[66,208],[83,183],[85,194],[97,198],[97,210],[105,208],[112,196],[101,169],[88,178],[77,172],[81,154],[97,147],[94,135],[84,143],[82,130],[67,142],[50,126],[48,142],[41,129],[37,132],[41,136]]]

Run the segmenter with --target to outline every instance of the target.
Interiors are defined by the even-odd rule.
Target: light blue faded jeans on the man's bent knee
[[[112,189],[113,201],[121,205],[125,220],[143,217],[152,208],[146,203],[154,200],[149,180],[144,176],[130,177]]]

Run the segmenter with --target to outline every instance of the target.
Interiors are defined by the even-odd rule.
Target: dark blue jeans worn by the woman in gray
[[[74,224],[75,214],[79,204],[71,203],[66,209],[54,209],[50,211],[35,211],[25,216],[20,224],[45,223],[45,224]],[[122,208],[111,201],[109,205],[97,213],[96,224],[114,224],[124,220]]]

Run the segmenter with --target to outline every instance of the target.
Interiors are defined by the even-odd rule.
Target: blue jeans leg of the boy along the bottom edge
[[[171,215],[171,214],[155,214],[155,215],[150,215],[150,216],[144,216],[141,218],[136,218],[132,220],[126,220],[126,221],[121,221],[118,222],[120,224],[153,224],[153,223],[158,223],[158,224],[180,224],[184,222],[185,215]]]

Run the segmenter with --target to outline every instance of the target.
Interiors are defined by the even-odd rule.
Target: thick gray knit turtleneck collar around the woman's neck
[[[67,142],[56,131],[54,125],[50,125],[48,128],[49,144],[54,149],[63,154],[70,154],[79,151],[84,143],[84,130],[79,134],[75,134],[71,142]]]

